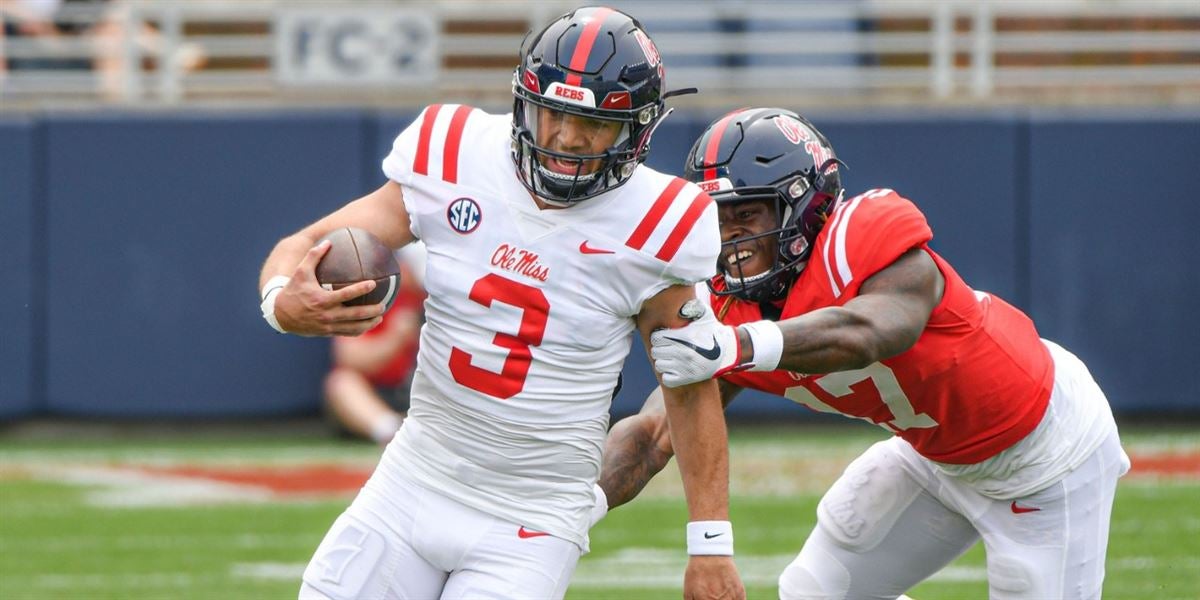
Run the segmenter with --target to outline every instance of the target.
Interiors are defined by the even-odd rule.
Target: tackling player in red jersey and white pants
[[[980,538],[991,598],[1098,598],[1129,460],[1084,364],[971,289],[910,200],[844,199],[828,139],[792,112],[725,115],[685,169],[724,246],[703,314],[650,337],[664,385],[718,377],[726,404],[752,388],[894,433],[824,494],[780,598],[896,598]],[[670,456],[652,395],[607,440],[608,504]]]

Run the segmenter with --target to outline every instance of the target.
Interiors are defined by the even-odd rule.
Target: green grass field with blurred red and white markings
[[[775,598],[821,492],[878,436],[734,428],[732,509],[749,598]],[[1117,494],[1105,598],[1200,598],[1200,431],[1127,428],[1124,439],[1135,462]],[[377,457],[370,444],[313,431],[0,436],[0,598],[295,598],[354,488],[324,487]],[[685,521],[672,466],[593,529],[568,598],[679,598]],[[982,547],[911,595],[986,598]]]

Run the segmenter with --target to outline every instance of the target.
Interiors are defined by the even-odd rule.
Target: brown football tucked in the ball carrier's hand
[[[340,289],[360,281],[374,280],[373,290],[342,304],[361,306],[384,302],[391,306],[396,300],[396,290],[400,289],[400,263],[383,240],[356,227],[336,229],[323,240],[334,242],[317,264],[317,281],[323,288]]]

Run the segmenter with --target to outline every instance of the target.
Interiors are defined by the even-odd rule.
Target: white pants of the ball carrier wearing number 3
[[[308,599],[562,599],[575,544],[458,504],[419,485],[364,490],[304,572]]]

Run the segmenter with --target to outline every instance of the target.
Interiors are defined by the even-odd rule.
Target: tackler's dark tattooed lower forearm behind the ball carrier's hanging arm
[[[718,385],[725,407],[742,391],[742,388],[722,379],[718,380]],[[632,500],[671,462],[672,456],[674,450],[671,448],[662,390],[655,388],[642,404],[642,410],[617,421],[605,440],[600,488],[608,497],[608,509]]]

